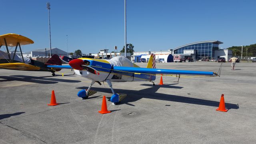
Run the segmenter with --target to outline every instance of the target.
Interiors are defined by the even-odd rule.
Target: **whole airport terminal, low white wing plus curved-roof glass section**
[[[173,62],[173,60],[171,60],[173,55],[183,55],[185,58],[193,58],[194,60],[215,59],[220,57],[224,57],[228,60],[232,57],[232,50],[221,49],[219,47],[220,44],[223,44],[223,42],[208,40],[185,44],[166,51],[134,52],[134,61],[141,62],[141,58],[149,58],[150,54],[156,54],[156,57],[162,62]]]

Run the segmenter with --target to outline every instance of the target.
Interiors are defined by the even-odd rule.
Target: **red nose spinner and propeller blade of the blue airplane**
[[[84,60],[74,59],[74,60],[70,60],[70,62],[68,62],[68,64],[76,70],[84,70],[85,69],[92,74],[100,75],[100,72],[98,72],[97,70],[95,70],[94,68],[92,68],[90,66],[85,65]]]

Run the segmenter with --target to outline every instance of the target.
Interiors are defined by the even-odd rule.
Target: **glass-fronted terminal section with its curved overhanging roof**
[[[215,58],[214,53],[219,49],[219,44],[223,44],[223,42],[218,40],[194,42],[174,48],[173,54],[194,54],[196,59]]]

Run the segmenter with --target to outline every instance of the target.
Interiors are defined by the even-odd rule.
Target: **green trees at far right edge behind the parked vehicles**
[[[256,56],[256,44],[251,44],[250,46],[243,46],[243,56],[246,56],[246,49],[247,49],[247,56]],[[241,56],[242,46],[232,46],[229,47],[228,50],[232,50],[233,56]]]

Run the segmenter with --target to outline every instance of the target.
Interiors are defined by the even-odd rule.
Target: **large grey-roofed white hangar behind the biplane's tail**
[[[68,56],[68,53],[58,48],[52,48],[52,55],[58,54],[59,56]],[[50,48],[38,48],[30,52],[23,53],[23,57],[34,57],[34,56],[50,56]]]

